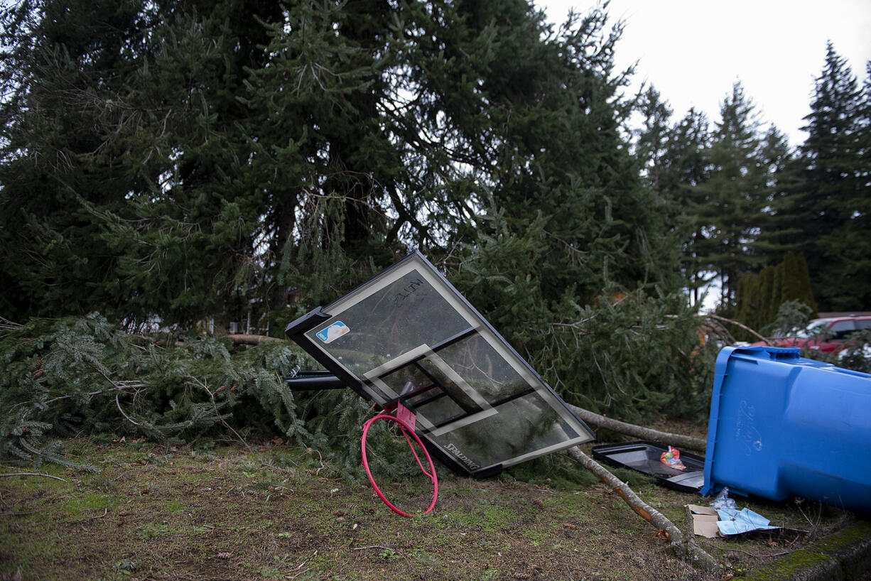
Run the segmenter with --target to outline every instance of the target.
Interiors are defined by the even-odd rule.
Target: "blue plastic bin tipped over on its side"
[[[727,486],[871,513],[871,375],[799,353],[720,351],[702,494]]]

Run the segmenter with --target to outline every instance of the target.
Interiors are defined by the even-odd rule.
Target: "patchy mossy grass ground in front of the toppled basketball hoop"
[[[0,467],[63,479],[0,477],[0,579],[726,579],[853,518],[816,503],[741,499],[773,524],[809,532],[701,540],[722,565],[706,576],[589,475],[473,481],[438,466],[436,510],[402,518],[368,484],[280,443],[195,452],[81,439],[67,449],[100,471]],[[681,528],[685,503],[707,503],[628,470],[618,476]],[[405,503],[426,494],[416,482],[385,490]]]

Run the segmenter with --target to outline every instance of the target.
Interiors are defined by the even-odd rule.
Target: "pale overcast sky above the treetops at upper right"
[[[534,0],[551,22],[569,9],[586,13],[594,0]],[[691,106],[719,120],[719,105],[740,80],[745,94],[792,145],[806,135],[814,78],[826,43],[867,78],[871,59],[871,0],[611,0],[611,20],[625,20],[617,64],[638,61],[635,84],[656,86],[682,118]]]

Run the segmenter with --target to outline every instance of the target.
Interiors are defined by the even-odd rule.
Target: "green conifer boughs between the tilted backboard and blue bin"
[[[555,265],[542,264],[544,219],[531,222],[522,236],[494,222],[498,233],[482,238],[452,281],[472,304],[486,308],[494,327],[559,395],[628,421],[704,414],[713,357],[700,344],[699,321],[683,294],[612,282],[580,304],[578,282],[546,300],[545,269]],[[579,281],[602,276],[602,265],[585,262],[584,254],[570,252],[576,261],[566,268],[573,267]]]

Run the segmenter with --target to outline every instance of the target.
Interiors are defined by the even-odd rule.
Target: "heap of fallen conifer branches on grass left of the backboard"
[[[68,463],[48,436],[107,432],[165,443],[279,433],[317,442],[283,378],[312,361],[287,343],[231,354],[213,337],[161,346],[105,318],[33,320],[0,341],[0,454]]]

